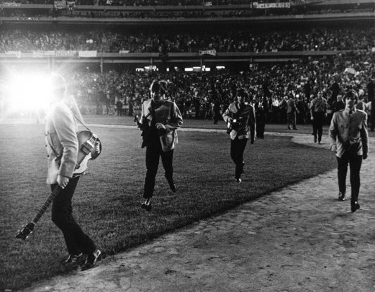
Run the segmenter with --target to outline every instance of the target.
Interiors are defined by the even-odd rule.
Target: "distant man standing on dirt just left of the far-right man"
[[[324,119],[327,116],[327,101],[323,98],[322,91],[317,92],[317,97],[311,101],[310,114],[312,120],[312,135],[314,143],[322,141]]]

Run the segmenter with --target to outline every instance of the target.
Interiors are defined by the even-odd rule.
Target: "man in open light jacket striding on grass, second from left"
[[[173,179],[173,152],[177,145],[177,128],[182,126],[182,115],[172,100],[165,100],[167,84],[154,80],[150,87],[151,99],[142,103],[141,121],[142,148],[146,147],[146,178],[144,181],[144,203],[141,208],[151,211],[151,198],[158,172],[159,157],[163,162],[165,178],[172,192],[176,192]]]

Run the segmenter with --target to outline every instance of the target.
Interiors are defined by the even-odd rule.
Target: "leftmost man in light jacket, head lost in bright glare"
[[[94,267],[101,251],[96,248],[72,216],[72,197],[79,174],[74,174],[78,155],[77,124],[75,114],[64,102],[65,80],[54,75],[51,80],[53,96],[46,116],[46,150],[48,157],[47,184],[53,190],[61,187],[52,202],[52,221],[63,232],[69,256],[64,264],[77,264],[87,255],[82,270]]]

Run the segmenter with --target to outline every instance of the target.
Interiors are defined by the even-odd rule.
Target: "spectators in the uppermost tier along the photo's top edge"
[[[72,1],[70,1],[72,2]],[[262,1],[254,1],[262,3]],[[264,1],[263,1],[264,2]],[[276,2],[272,0],[272,2]],[[288,1],[286,1],[288,3]],[[0,8],[0,16],[6,17],[34,17],[34,18],[231,18],[255,17],[275,15],[311,15],[333,13],[361,13],[374,12],[375,5],[370,0],[358,3],[333,3],[331,5],[308,5],[295,3],[284,8],[256,8],[251,1],[246,0],[77,0],[74,5],[66,8],[30,9],[25,7]],[[315,1],[317,2],[317,1]],[[50,4],[51,0],[23,1],[25,4]],[[237,4],[247,4],[237,6]],[[319,4],[319,3],[318,3]],[[91,9],[100,6],[103,9]],[[117,6],[118,9],[109,9]],[[174,6],[174,9],[164,9],[163,6]],[[194,7],[195,6],[195,7]],[[123,7],[123,8],[121,8]]]

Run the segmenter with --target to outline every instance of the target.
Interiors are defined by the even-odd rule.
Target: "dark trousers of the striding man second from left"
[[[168,183],[173,182],[173,150],[164,152],[161,148],[160,141],[155,140],[148,142],[146,146],[146,178],[144,180],[144,198],[153,197],[155,187],[155,176],[158,173],[159,157],[163,163],[165,178]]]

